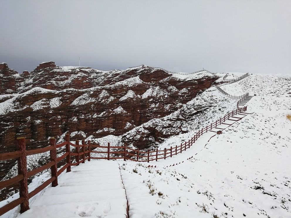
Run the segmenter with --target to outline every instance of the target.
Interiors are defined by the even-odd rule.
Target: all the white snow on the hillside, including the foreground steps
[[[256,94],[246,103],[251,114],[236,115],[243,118],[219,126],[222,134],[203,134],[182,154],[157,162],[85,162],[72,167],[74,172],[62,173],[57,187],[33,197],[30,210],[19,214],[18,206],[3,217],[125,217],[125,190],[130,218],[291,217],[291,121],[286,118],[291,114],[290,84],[290,76],[257,74],[221,86],[231,95]],[[236,107],[216,88],[207,92],[219,96],[221,107]],[[205,116],[225,114],[209,110]],[[194,133],[173,136],[159,150],[179,145]]]

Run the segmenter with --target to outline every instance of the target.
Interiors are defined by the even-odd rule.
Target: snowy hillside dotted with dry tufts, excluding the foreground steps
[[[150,163],[116,161],[121,166],[129,216],[291,217],[291,121],[286,118],[291,113],[290,84],[290,76],[257,74],[221,86],[231,95],[256,94],[246,104],[254,113],[209,142],[206,137],[199,138],[173,158]],[[207,91],[221,98],[216,88]],[[221,100],[221,106],[225,102],[230,109],[232,100]],[[211,112],[213,117],[226,113],[209,110],[207,117]],[[189,133],[173,136],[160,147],[180,144],[194,134],[195,128],[189,129]]]

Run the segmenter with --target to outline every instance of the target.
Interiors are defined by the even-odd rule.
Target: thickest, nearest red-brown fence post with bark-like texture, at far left
[[[20,204],[20,212],[29,210],[28,203],[28,184],[27,184],[27,162],[26,162],[26,143],[25,137],[18,137],[17,150],[21,151],[21,156],[17,158],[18,175],[23,175],[23,179],[19,181],[19,197],[24,197],[24,202]]]

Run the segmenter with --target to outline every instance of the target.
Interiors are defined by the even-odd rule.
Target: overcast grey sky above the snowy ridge
[[[291,74],[290,0],[0,0],[0,62]]]

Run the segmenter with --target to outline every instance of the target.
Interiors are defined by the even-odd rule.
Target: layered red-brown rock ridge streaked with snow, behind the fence
[[[26,137],[27,149],[35,149],[65,132],[75,132],[72,140],[122,135],[121,143],[147,148],[184,131],[177,116],[167,118],[165,123],[175,127],[166,132],[151,120],[180,110],[217,79],[209,73],[180,76],[147,66],[100,71],[44,62],[21,75],[7,64],[0,66],[2,81],[10,81],[5,87],[15,93],[0,96],[1,153],[16,149],[16,137]],[[181,113],[191,119],[199,112]],[[140,137],[133,137],[138,131]],[[0,176],[13,164],[4,163]]]

